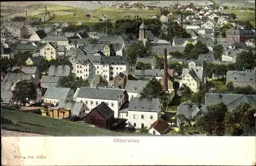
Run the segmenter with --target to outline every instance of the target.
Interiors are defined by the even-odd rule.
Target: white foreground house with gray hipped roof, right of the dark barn
[[[131,98],[128,108],[129,128],[148,127],[161,116],[161,104],[159,98]]]

